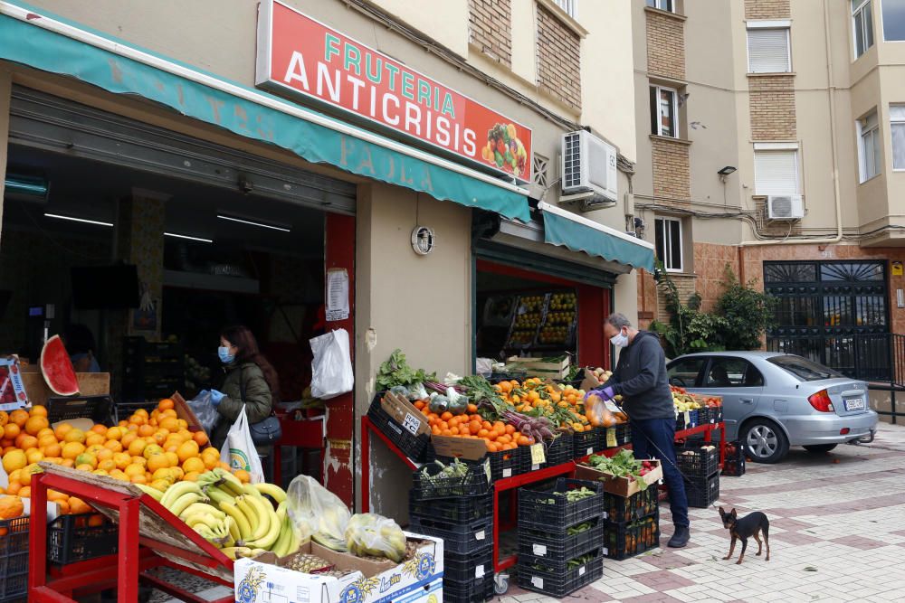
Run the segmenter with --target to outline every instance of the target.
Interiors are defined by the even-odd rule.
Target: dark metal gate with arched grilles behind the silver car
[[[889,333],[886,262],[767,261],[764,286],[778,298],[768,350],[796,353],[853,377],[859,356],[885,357],[870,349],[885,350],[880,338],[858,335]],[[872,377],[889,379],[889,370],[878,363]]]

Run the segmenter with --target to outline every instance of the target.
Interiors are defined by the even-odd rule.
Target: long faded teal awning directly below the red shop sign
[[[517,187],[461,174],[456,165],[389,138],[21,6],[9,11],[21,18],[0,14],[0,60],[71,76],[115,94],[138,95],[239,136],[281,146],[311,163],[530,220],[528,199]]]

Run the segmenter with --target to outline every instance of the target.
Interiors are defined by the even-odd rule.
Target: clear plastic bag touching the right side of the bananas
[[[286,509],[301,542],[311,539],[333,551],[346,550],[348,507],[316,479],[296,476],[286,491]]]

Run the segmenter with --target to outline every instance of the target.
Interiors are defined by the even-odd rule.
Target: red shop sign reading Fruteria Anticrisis
[[[261,6],[259,86],[319,100],[530,180],[528,127],[287,5]]]

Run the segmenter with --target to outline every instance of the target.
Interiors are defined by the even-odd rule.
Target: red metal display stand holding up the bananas
[[[47,573],[47,489],[78,496],[95,507],[114,510],[119,513],[119,552],[89,561],[81,561],[65,566],[62,570]],[[92,485],[81,479],[57,473],[41,473],[32,476],[32,511],[29,531],[28,600],[74,602],[73,596],[82,596],[105,589],[116,589],[119,601],[138,600],[139,580],[184,601],[202,603],[206,599],[180,589],[166,581],[148,574],[148,570],[169,567],[186,571],[212,580],[232,589],[233,582],[225,577],[217,577],[205,571],[218,570],[220,574],[231,575],[233,561],[205,541],[195,531],[169,513],[151,496],[135,495],[99,485]],[[174,546],[167,542],[148,538],[139,532],[141,507],[146,512],[159,515],[161,522],[184,536],[195,551]],[[175,520],[175,521],[174,521]],[[156,554],[163,553],[168,559]],[[172,561],[180,559],[195,567]],[[216,599],[214,603],[230,603],[234,597]]]

